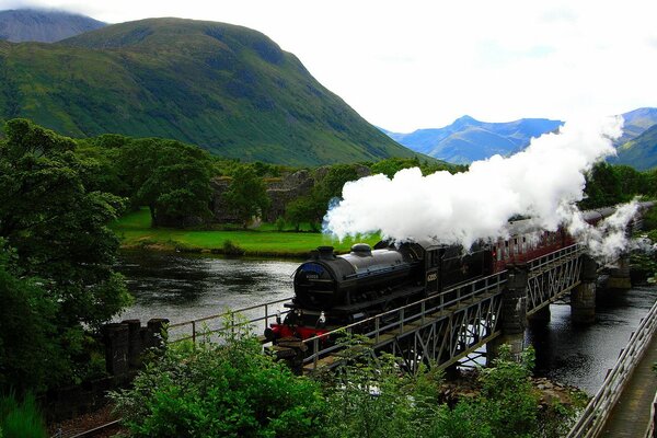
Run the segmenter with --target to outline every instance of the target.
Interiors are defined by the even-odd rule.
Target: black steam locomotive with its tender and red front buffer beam
[[[438,293],[443,288],[492,274],[492,251],[461,246],[379,242],[335,255],[320,246],[295,273],[295,298],[283,324],[267,337],[308,338]]]

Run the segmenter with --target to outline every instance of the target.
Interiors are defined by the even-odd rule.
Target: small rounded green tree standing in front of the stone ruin
[[[223,199],[244,228],[252,218],[261,216],[269,207],[265,183],[251,165],[235,169]]]

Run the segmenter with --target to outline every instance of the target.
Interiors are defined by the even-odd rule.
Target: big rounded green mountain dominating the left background
[[[414,157],[241,26],[181,19],[115,24],[55,44],[0,42],[0,118],[73,137],[168,137],[291,165]]]

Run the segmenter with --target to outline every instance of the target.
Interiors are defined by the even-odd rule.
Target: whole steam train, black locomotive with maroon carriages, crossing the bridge
[[[596,224],[614,211],[613,207],[587,210],[583,217]],[[265,330],[265,337],[276,344],[321,336],[575,243],[564,228],[537,231],[529,219],[509,221],[508,231],[506,239],[477,242],[468,251],[431,240],[381,241],[373,247],[357,243],[343,255],[336,255],[332,246],[320,246],[293,273],[289,312]]]

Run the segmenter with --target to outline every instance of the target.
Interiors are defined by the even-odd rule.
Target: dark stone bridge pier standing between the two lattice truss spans
[[[529,272],[525,266],[509,267],[507,288],[502,295],[502,336],[486,345],[486,365],[491,365],[498,356],[499,347],[504,344],[509,345],[514,356],[525,350],[528,277]]]

